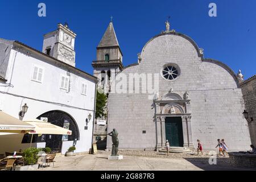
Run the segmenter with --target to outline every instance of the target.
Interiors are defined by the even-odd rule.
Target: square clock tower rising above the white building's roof
[[[76,34],[65,23],[57,25],[57,30],[44,35],[43,52],[75,67]]]

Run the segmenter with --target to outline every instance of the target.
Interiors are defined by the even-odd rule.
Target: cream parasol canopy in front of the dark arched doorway
[[[67,130],[64,129],[63,127],[52,125],[47,121],[41,121],[39,119],[30,119],[24,122],[35,127],[35,129],[28,132],[28,134],[72,135],[71,130]]]

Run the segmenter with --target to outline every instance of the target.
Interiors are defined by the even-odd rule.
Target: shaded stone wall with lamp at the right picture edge
[[[251,136],[251,143],[256,146],[256,76],[242,82],[241,84],[245,109],[249,113],[249,118],[254,121],[248,123]]]

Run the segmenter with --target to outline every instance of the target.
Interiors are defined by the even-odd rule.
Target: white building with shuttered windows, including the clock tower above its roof
[[[73,145],[75,152],[87,152],[92,146],[97,78],[74,67],[75,38],[67,25],[58,24],[56,31],[44,35],[43,52],[0,39],[0,110],[23,121],[47,118],[54,125],[68,127],[72,130],[68,137],[33,138],[33,146],[63,154]],[[28,110],[20,117],[24,104]],[[0,154],[27,148],[30,137],[1,135]]]

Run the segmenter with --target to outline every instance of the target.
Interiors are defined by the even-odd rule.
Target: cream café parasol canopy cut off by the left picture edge
[[[27,133],[27,131],[34,130],[34,128],[35,126],[0,111],[0,133]]]

